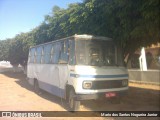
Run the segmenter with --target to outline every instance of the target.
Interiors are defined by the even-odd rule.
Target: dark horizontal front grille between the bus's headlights
[[[92,81],[92,87],[90,89],[111,89],[126,87],[122,85],[123,80],[106,80],[106,81]],[[127,81],[127,80],[126,80]]]

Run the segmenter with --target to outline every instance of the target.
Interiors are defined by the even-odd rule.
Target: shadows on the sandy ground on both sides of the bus
[[[17,79],[16,83],[27,90],[34,91],[26,80],[23,73],[4,72],[4,75]],[[45,91],[39,95],[51,102],[61,105],[65,110],[69,110],[67,102],[59,97],[51,95]],[[159,111],[160,91],[130,87],[128,95],[121,99],[120,103],[111,103],[108,100],[88,100],[82,101],[82,109],[87,108],[91,111]]]

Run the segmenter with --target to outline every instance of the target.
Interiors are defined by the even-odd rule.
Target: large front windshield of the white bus
[[[116,59],[116,47],[112,41],[76,41],[76,63],[79,65],[115,66]]]

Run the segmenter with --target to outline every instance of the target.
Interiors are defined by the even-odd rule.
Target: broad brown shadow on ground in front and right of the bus
[[[83,101],[82,105],[93,111],[159,111],[160,91],[130,87],[120,103],[105,99]]]

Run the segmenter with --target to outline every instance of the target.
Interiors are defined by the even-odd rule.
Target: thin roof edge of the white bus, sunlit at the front
[[[57,39],[57,40],[53,40],[51,42],[46,42],[46,43],[42,43],[39,45],[35,45],[35,46],[31,46],[30,48],[34,48],[34,47],[38,47],[41,45],[45,45],[45,44],[50,44],[50,43],[54,43],[54,42],[58,42],[58,41],[63,41],[63,40],[105,40],[105,41],[112,41],[112,38],[109,37],[103,37],[103,36],[94,36],[94,35],[88,35],[88,34],[82,34],[82,35],[72,35],[70,37],[66,37],[66,38],[62,38],[62,39]]]

